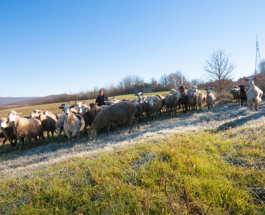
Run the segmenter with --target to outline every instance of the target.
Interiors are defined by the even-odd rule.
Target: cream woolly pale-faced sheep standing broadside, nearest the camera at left
[[[34,138],[34,146],[36,146],[37,136],[40,136],[46,143],[40,120],[20,118],[19,114],[21,113],[15,111],[8,113],[8,122],[12,122],[13,131],[19,140],[19,151],[21,151],[21,137],[25,138],[26,150],[28,149],[28,139]]]

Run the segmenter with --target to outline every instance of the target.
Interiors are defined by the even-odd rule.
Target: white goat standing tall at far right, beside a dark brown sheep
[[[254,80],[257,78],[249,77],[246,79],[249,82],[249,90],[246,92],[247,101],[249,103],[249,109],[253,110],[253,103],[255,103],[255,110],[258,110],[258,103],[261,101],[262,90],[260,90],[254,84]]]

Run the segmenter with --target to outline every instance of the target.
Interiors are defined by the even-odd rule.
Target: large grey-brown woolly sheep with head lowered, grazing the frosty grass
[[[111,107],[104,108],[91,124],[87,133],[91,138],[92,132],[94,131],[94,138],[100,128],[107,128],[107,135],[109,135],[109,129],[112,125],[119,134],[117,124],[130,123],[129,134],[132,130],[133,122],[137,125],[138,129],[140,126],[134,117],[136,107],[132,102],[119,102]],[[91,138],[92,139],[92,138]]]

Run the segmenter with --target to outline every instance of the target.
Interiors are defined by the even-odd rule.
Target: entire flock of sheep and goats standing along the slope
[[[255,110],[257,110],[257,104],[261,101],[262,91],[255,86],[254,80],[256,78],[249,77],[250,88],[246,90],[243,85],[240,85],[239,89],[229,89],[229,92],[236,99],[236,104],[241,99],[241,105],[245,102],[250,104],[250,109],[253,110],[253,103],[255,103]],[[236,87],[237,88],[237,87]],[[123,99],[121,102],[114,99],[113,101],[107,101],[106,106],[98,107],[97,103],[90,103],[88,107],[84,102],[68,102],[68,104],[62,104],[59,108],[62,109],[61,114],[52,114],[48,111],[34,110],[30,117],[19,117],[19,114],[15,111],[10,111],[8,117],[0,118],[0,138],[4,137],[3,146],[6,140],[9,140],[13,149],[16,150],[17,141],[19,140],[19,150],[21,145],[25,144],[27,150],[28,142],[31,143],[31,139],[34,139],[34,146],[36,143],[40,143],[40,138],[45,142],[43,132],[47,131],[48,141],[50,141],[49,133],[51,132],[52,139],[55,130],[58,132],[58,136],[61,136],[64,131],[70,143],[71,138],[74,141],[74,137],[77,136],[78,140],[82,132],[89,129],[87,133],[89,138],[92,137],[100,129],[106,129],[107,135],[109,135],[110,127],[112,126],[119,134],[118,125],[129,122],[130,130],[132,130],[133,123],[135,123],[140,129],[138,122],[141,117],[146,116],[155,120],[157,114],[162,110],[166,110],[170,114],[176,115],[177,109],[183,107],[183,112],[186,113],[189,108],[192,109],[192,113],[195,113],[197,107],[201,110],[202,104],[205,102],[208,109],[213,109],[215,105],[215,96],[210,93],[212,88],[207,87],[206,96],[204,93],[197,90],[198,87],[194,86],[189,90],[186,87],[180,85],[177,90],[171,89],[170,94],[166,97],[156,94],[155,96],[146,97],[143,93],[139,92],[135,94],[138,98],[130,101]],[[143,96],[143,97],[142,97]],[[34,119],[35,118],[35,119]],[[1,131],[0,130],[0,131]],[[39,137],[39,140],[38,138]],[[28,141],[29,140],[29,141]],[[14,141],[14,142],[13,142]],[[2,146],[2,148],[3,148]]]

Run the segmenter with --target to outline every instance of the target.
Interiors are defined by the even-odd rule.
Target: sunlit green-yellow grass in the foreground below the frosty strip
[[[173,214],[167,179],[178,214],[203,214],[210,204],[208,214],[261,214],[265,154],[258,142],[264,137],[246,142],[233,130],[178,133],[93,156],[73,152],[54,166],[3,179],[0,212]]]

